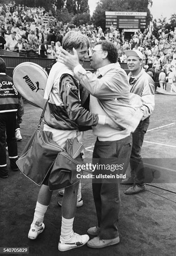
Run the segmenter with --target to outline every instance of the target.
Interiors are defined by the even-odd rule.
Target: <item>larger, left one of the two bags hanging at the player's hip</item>
[[[38,128],[16,161],[20,171],[35,184],[41,185],[59,152],[65,151],[52,140],[52,133]]]

